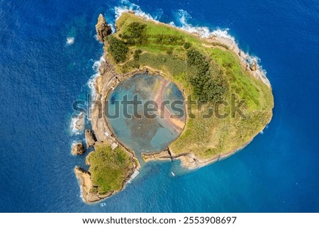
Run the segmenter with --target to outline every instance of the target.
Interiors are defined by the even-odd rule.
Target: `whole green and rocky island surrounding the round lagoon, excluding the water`
[[[118,18],[116,30],[111,34],[99,16],[96,33],[104,44],[104,55],[95,80],[91,130],[85,132],[86,147],[94,151],[86,157],[89,171],[74,169],[86,203],[121,191],[138,174],[140,162],[135,152],[116,138],[103,117],[105,108],[96,105],[105,104],[110,92],[135,74],[161,75],[177,84],[184,97],[193,95],[201,103],[201,109],[187,109],[181,135],[166,150],[141,154],[145,162],[178,159],[189,169],[203,167],[243,148],[271,120],[274,98],[270,83],[257,62],[251,62],[233,40],[201,38],[133,12]],[[242,116],[225,104],[218,111],[228,114],[227,118],[201,118],[220,99],[235,105],[245,100]],[[194,116],[189,117],[190,113]]]

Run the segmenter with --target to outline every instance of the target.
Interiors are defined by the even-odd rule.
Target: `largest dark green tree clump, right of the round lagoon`
[[[211,70],[208,59],[194,48],[187,51],[187,63],[195,70],[189,79],[198,99],[200,101],[222,100],[227,90],[222,72]]]

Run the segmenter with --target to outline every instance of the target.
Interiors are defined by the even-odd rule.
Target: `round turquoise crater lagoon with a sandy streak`
[[[164,150],[184,128],[184,96],[176,84],[157,75],[135,74],[108,96],[108,122],[114,134],[138,155]]]

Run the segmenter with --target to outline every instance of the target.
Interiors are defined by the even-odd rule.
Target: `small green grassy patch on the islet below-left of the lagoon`
[[[97,146],[89,155],[91,181],[99,194],[118,191],[130,174],[133,163],[122,148],[111,149],[110,145]]]

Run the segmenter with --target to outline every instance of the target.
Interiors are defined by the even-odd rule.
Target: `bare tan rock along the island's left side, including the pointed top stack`
[[[100,14],[98,23],[96,24],[96,32],[98,34],[99,40],[103,40],[103,35],[109,35],[109,28],[106,25],[106,21],[103,16]],[[107,30],[107,31],[105,31]],[[129,171],[128,177],[123,181],[121,189],[118,191],[108,192],[106,194],[99,194],[97,191],[97,186],[92,184],[91,174],[89,171],[82,169],[81,167],[74,168],[74,174],[77,176],[79,180],[79,184],[81,187],[82,199],[86,204],[91,204],[98,202],[102,199],[106,199],[107,197],[116,194],[116,192],[121,191],[125,184],[130,182],[133,178],[138,175],[138,170],[140,168],[140,163],[136,158],[133,150],[125,148],[113,135],[110,126],[106,119],[103,117],[103,108],[101,108],[98,103],[105,104],[105,100],[107,99],[107,95],[109,92],[113,90],[116,85],[121,82],[125,77],[130,77],[131,75],[118,75],[113,65],[108,61],[107,53],[104,51],[104,59],[105,61],[101,62],[101,66],[99,67],[99,77],[96,78],[95,81],[95,89],[96,95],[94,97],[94,104],[91,106],[91,127],[92,129],[86,129],[85,138],[86,138],[86,148],[95,148],[97,145],[111,145],[112,149],[120,146],[123,150],[130,155],[130,159],[133,163],[132,170]],[[133,72],[134,74],[136,72]],[[105,106],[103,106],[105,107]],[[102,114],[102,115],[101,115]],[[91,153],[94,151],[91,151]],[[89,153],[89,155],[91,154]],[[90,165],[89,163],[89,155],[86,157],[86,165]]]

